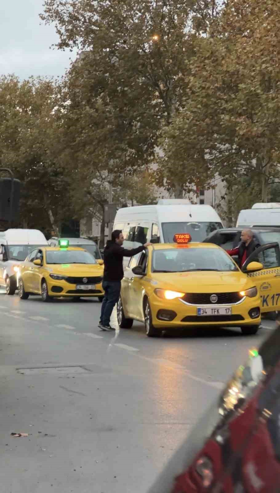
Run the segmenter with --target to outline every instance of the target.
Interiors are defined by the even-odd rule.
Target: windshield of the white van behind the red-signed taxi
[[[203,222],[203,221],[188,221],[188,222],[163,222],[161,223],[164,243],[173,243],[173,238],[176,233],[189,233],[193,242],[203,242],[205,238],[221,229],[220,222]]]

